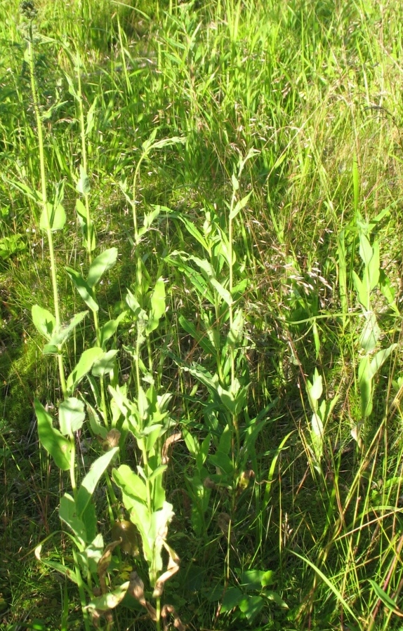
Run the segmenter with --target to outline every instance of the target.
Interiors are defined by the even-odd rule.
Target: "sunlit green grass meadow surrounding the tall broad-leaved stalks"
[[[136,281],[131,210],[119,182],[133,180],[152,131],[157,140],[186,140],[145,160],[138,215],[159,204],[199,230],[209,213],[225,218],[239,158],[256,150],[240,179],[251,197],[233,241],[247,279],[247,408],[250,417],[267,410],[267,424],[254,482],[233,516],[231,545],[215,518],[225,507],[220,493],[211,498],[206,531],[192,531],[180,491],[192,459],[184,444],[174,449],[166,484],[176,512],[170,541],[182,563],[167,589],[183,621],[197,630],[401,629],[402,3],[41,0],[37,8],[46,167],[49,182],[65,180],[66,190],[67,225],[55,236],[66,317],[79,299],[64,267],[85,263],[74,212],[81,140],[66,46],[83,60],[86,108],[95,103],[88,173],[98,247],[119,250],[100,288],[105,314],[116,312]],[[48,304],[51,281],[37,204],[26,194],[39,189],[39,154],[19,25],[18,2],[1,2],[0,627],[60,628],[66,610],[67,628],[78,629],[73,587],[33,554],[55,532],[55,550],[69,552],[58,532],[66,481],[39,449],[32,407],[34,396],[51,404],[60,392],[31,321],[32,304]],[[365,313],[354,277],[366,273],[362,234],[380,247],[381,280],[369,291],[376,350],[397,343],[371,382],[373,411],[364,427]],[[166,354],[211,370],[213,359],[180,324],[183,316],[199,329],[205,307],[167,263],[180,250],[200,255],[183,222],[161,215],[143,243],[147,272],[154,281],[164,275],[168,296],[154,364],[174,393],[173,418],[204,438],[204,394]],[[72,357],[91,336],[88,325]],[[127,357],[121,371],[128,371]],[[307,386],[315,375],[322,400],[334,401],[319,442]],[[86,441],[84,432],[84,465]],[[265,599],[257,613],[251,600],[243,610],[236,597],[223,606],[227,554],[230,585]],[[246,571],[272,571],[270,596],[262,585],[242,585]],[[128,607],[115,624],[148,628]]]

